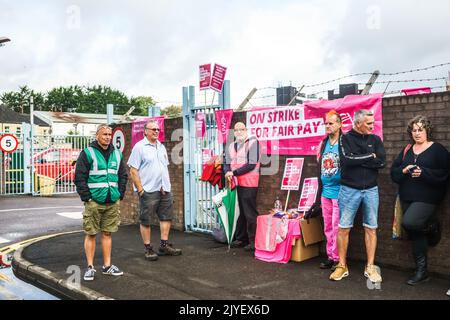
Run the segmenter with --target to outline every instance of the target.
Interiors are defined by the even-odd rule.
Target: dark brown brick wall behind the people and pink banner
[[[450,92],[434,93],[429,95],[417,95],[409,97],[394,97],[383,100],[383,130],[384,142],[387,152],[387,168],[380,171],[380,211],[379,211],[379,232],[376,262],[380,265],[389,265],[398,268],[411,268],[413,260],[410,253],[410,243],[407,241],[392,240],[392,217],[393,206],[396,194],[396,185],[392,183],[389,175],[390,166],[396,155],[409,143],[406,134],[406,124],[412,117],[422,114],[434,124],[435,140],[450,149]],[[245,121],[245,112],[235,113],[233,116],[234,125],[238,121]],[[178,141],[170,142],[172,132],[183,125],[182,118],[166,120],[166,148],[171,157],[172,148]],[[131,141],[130,125],[125,125],[124,130],[127,141]],[[129,155],[129,145],[125,149],[125,157]],[[305,178],[316,175],[317,166],[314,157],[305,156],[305,163],[302,174],[302,183]],[[262,163],[267,163],[267,156],[262,157]],[[281,201],[286,200],[287,192],[280,191],[281,178],[286,157],[279,157],[276,174],[261,177],[258,191],[258,210],[260,214],[266,213],[272,208],[277,195]],[[262,165],[262,168],[269,165]],[[183,220],[183,167],[174,165],[171,161],[169,167],[171,182],[175,197],[176,219],[174,227],[182,230]],[[122,217],[126,222],[135,222],[137,216],[137,197],[131,192],[131,183],[127,191],[126,199],[122,203]],[[450,276],[450,191],[441,206],[439,215],[443,227],[442,240],[435,248],[429,251],[429,269],[432,272]],[[295,208],[300,191],[291,192],[288,208]],[[154,221],[154,223],[157,223]],[[321,247],[324,253],[324,245]],[[365,260],[364,230],[362,219],[358,215],[355,220],[355,228],[350,235],[349,257],[356,260]]]

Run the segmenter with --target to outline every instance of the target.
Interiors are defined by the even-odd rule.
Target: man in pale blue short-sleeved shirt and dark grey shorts
[[[180,249],[169,243],[173,215],[173,196],[169,178],[169,159],[166,148],[158,141],[159,126],[154,120],[145,125],[144,139],[136,143],[128,160],[130,176],[139,195],[140,230],[145,246],[145,259],[155,261],[158,256],[178,256]],[[158,251],[150,243],[150,215],[159,218],[161,242]]]

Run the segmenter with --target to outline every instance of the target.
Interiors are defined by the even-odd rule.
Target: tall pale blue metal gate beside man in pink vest
[[[219,94],[219,104],[195,105],[195,88],[183,87],[183,160],[184,160],[184,212],[186,230],[210,233],[219,226],[219,218],[212,196],[219,192],[217,186],[200,180],[202,166],[207,158],[220,155],[223,145],[217,140],[215,111],[230,108],[230,83],[225,81]],[[196,114],[205,115],[206,134],[196,137]]]

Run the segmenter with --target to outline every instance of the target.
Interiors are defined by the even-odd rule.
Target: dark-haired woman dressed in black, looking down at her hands
[[[432,237],[439,233],[436,209],[445,197],[450,174],[450,154],[432,141],[432,128],[426,117],[413,118],[407,128],[413,143],[399,153],[391,168],[392,180],[399,185],[402,226],[412,242],[416,264],[409,285],[428,280],[428,245],[436,242]]]

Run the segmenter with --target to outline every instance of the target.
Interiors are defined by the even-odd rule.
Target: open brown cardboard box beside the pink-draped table
[[[319,255],[319,243],[325,237],[320,217],[300,220],[301,236],[292,247],[291,261],[301,262]]]

